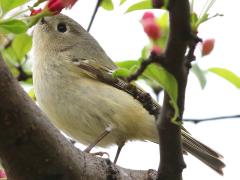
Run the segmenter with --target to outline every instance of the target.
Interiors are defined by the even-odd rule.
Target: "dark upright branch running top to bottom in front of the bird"
[[[185,88],[188,68],[185,66],[185,52],[190,39],[189,2],[188,0],[169,0],[170,34],[166,49],[165,68],[175,76],[178,82],[178,107],[181,121],[184,111]],[[160,137],[159,179],[182,179],[185,163],[182,155],[181,129],[171,122],[173,109],[169,96],[165,93],[161,114],[157,119]]]

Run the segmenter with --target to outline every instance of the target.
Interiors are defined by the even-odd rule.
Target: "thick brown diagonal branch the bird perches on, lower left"
[[[0,157],[8,180],[153,179],[75,148],[19,86],[0,57]]]

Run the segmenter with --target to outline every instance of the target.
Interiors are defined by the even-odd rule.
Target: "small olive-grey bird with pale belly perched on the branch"
[[[154,117],[128,93],[89,75],[83,63],[102,73],[117,67],[97,41],[64,15],[45,17],[33,34],[33,85],[37,102],[52,123],[73,139],[89,145],[129,140],[158,143]],[[222,156],[182,130],[184,150],[222,174]],[[120,152],[120,151],[119,151]]]

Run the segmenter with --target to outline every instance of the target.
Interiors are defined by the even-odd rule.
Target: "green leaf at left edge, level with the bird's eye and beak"
[[[27,25],[23,21],[17,19],[10,19],[0,22],[0,31],[4,33],[20,34],[26,32],[27,29]]]

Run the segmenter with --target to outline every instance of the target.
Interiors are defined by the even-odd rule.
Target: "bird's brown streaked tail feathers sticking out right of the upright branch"
[[[158,138],[156,139],[156,135],[154,135],[150,141],[158,143],[159,140]],[[194,139],[191,134],[184,129],[182,130],[182,143],[185,152],[189,152],[214,171],[223,175],[222,169],[225,167],[225,164],[221,161],[223,158],[221,154]]]

